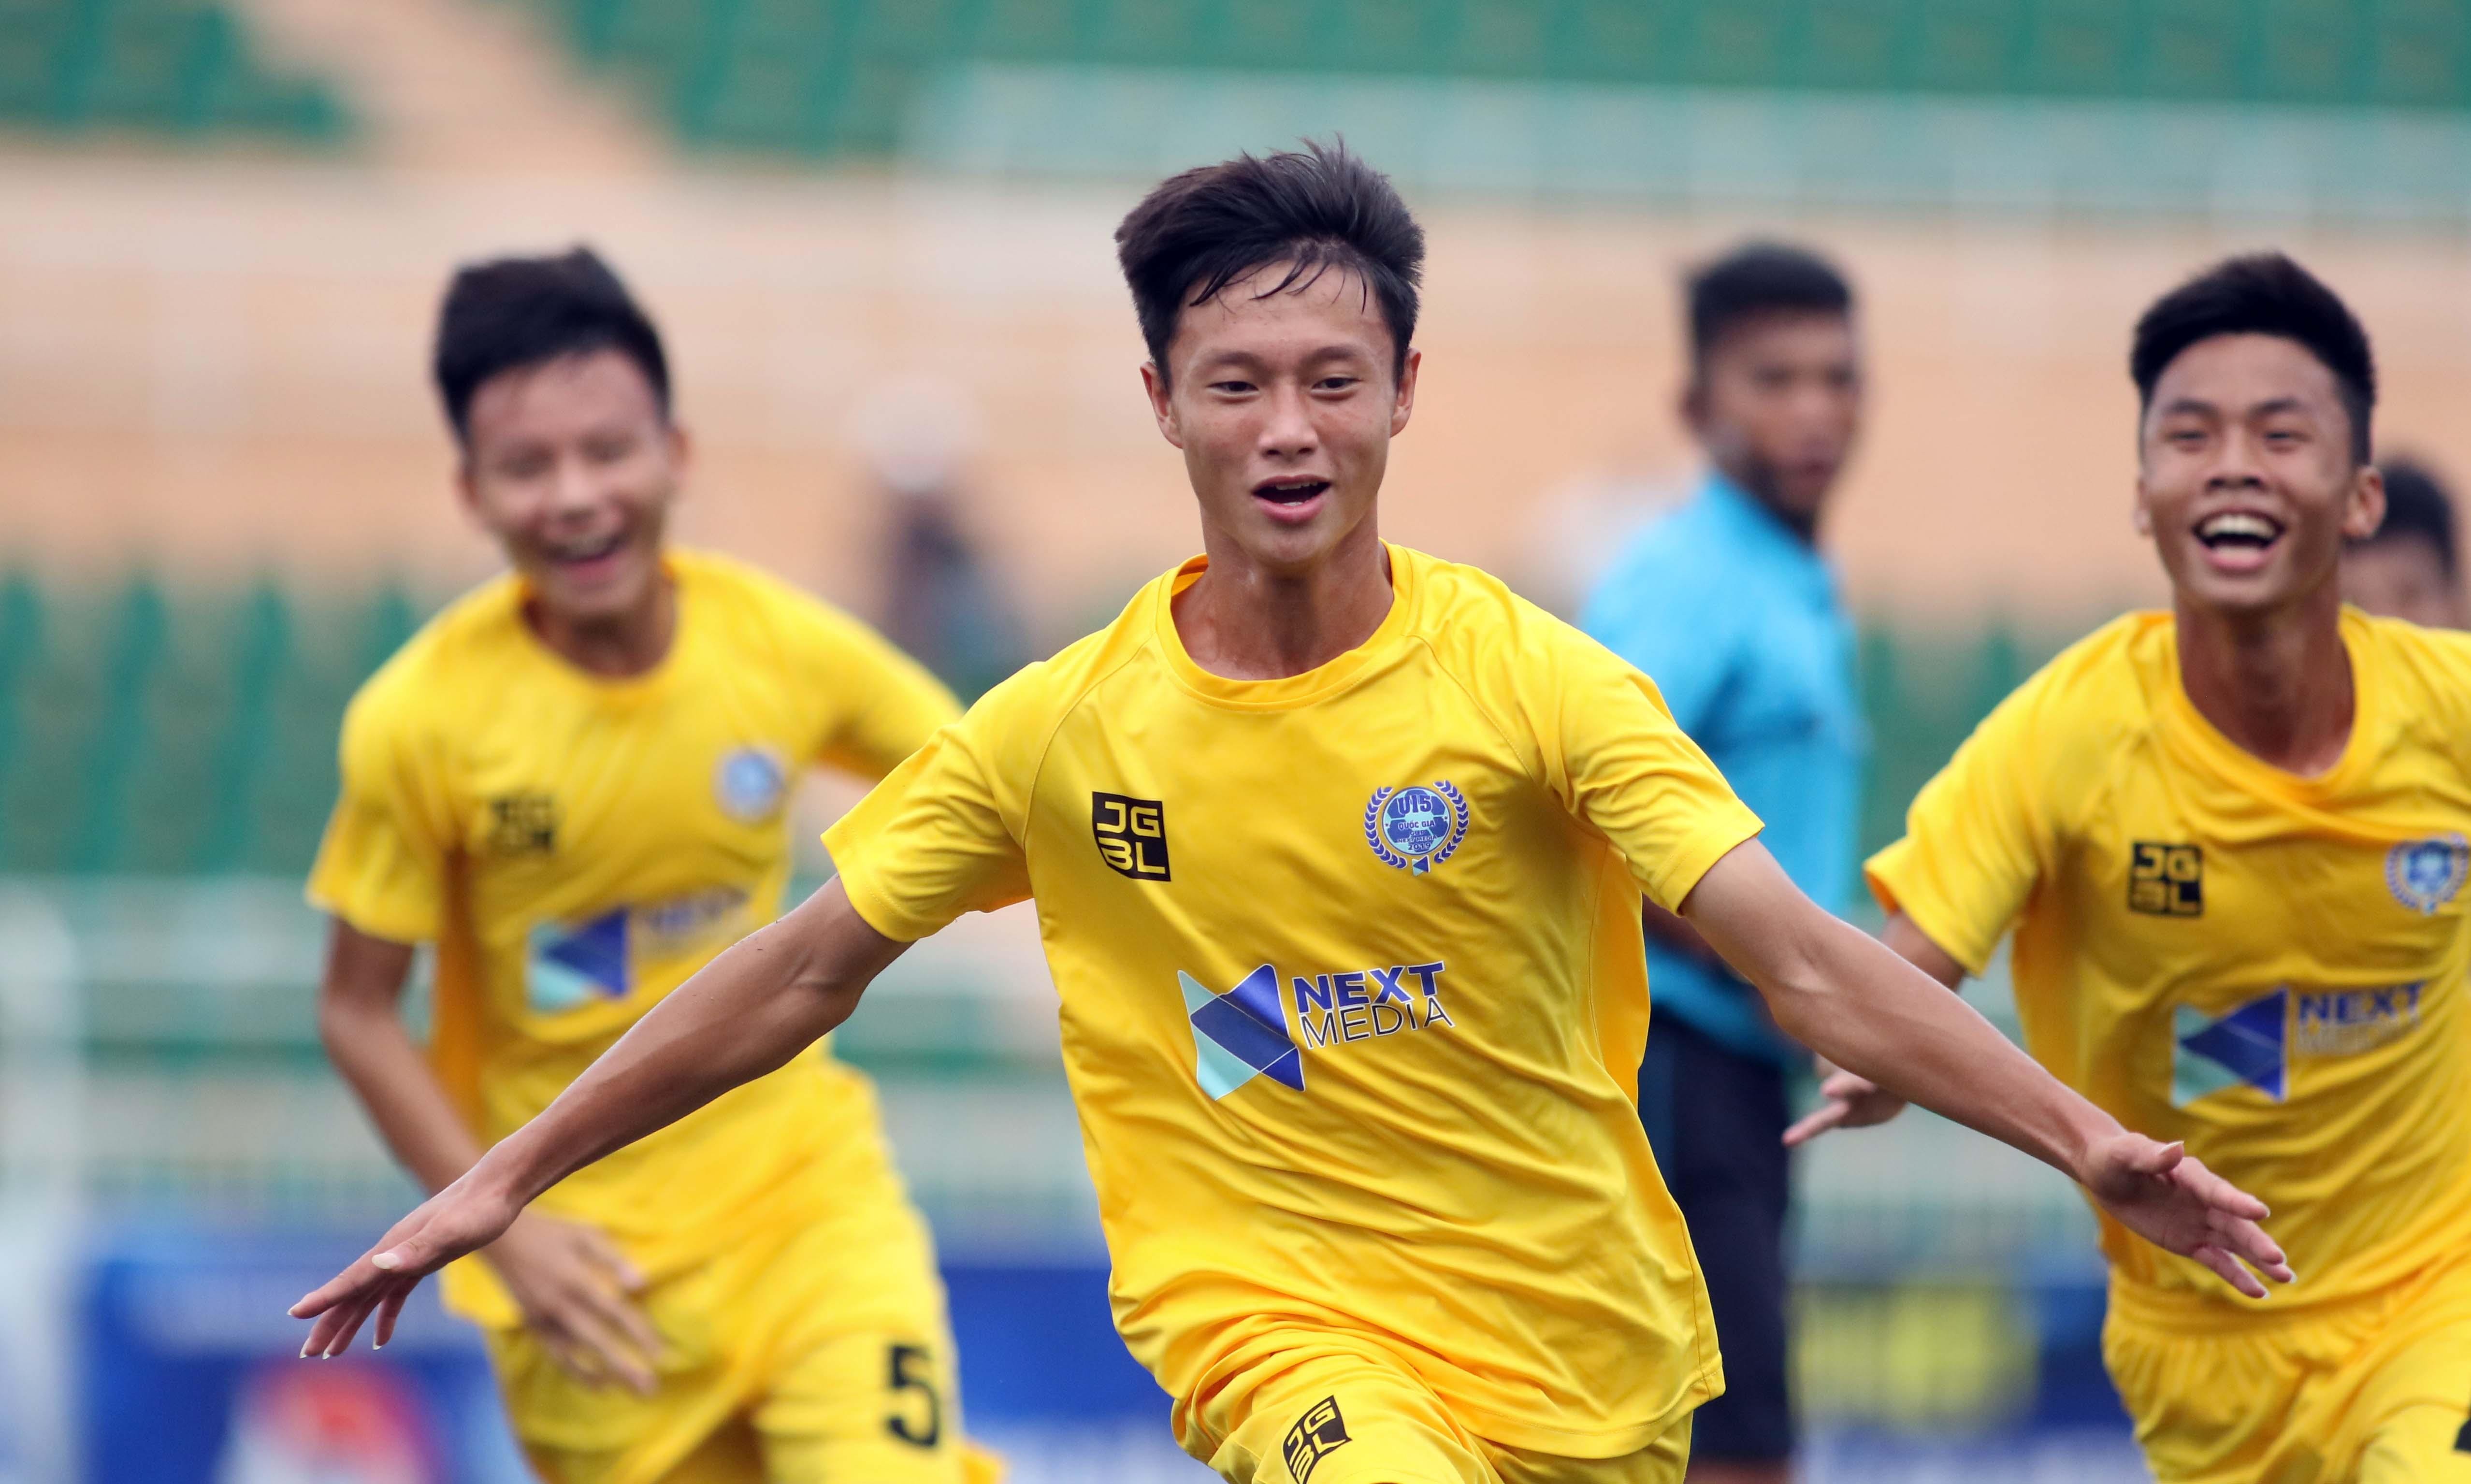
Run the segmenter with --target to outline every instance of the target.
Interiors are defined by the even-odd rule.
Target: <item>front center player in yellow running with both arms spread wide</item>
[[[1117,230],[1206,556],[996,686],[840,862],[297,1314],[334,1353],[558,1175],[778,1067],[885,963],[1035,896],[1114,1257],[1186,1449],[1245,1484],[1668,1484],[1720,1365],[1631,1101],[1638,896],[1787,1032],[2081,1175],[2224,1279],[2263,1207],[1811,906],[1636,669],[1386,546],[1423,232],[1344,153]]]

